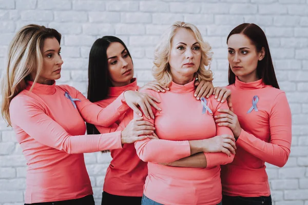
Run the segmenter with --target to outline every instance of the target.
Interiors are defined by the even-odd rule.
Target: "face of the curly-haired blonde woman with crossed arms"
[[[179,28],[171,40],[169,65],[172,78],[194,77],[201,61],[201,48],[192,31]]]

